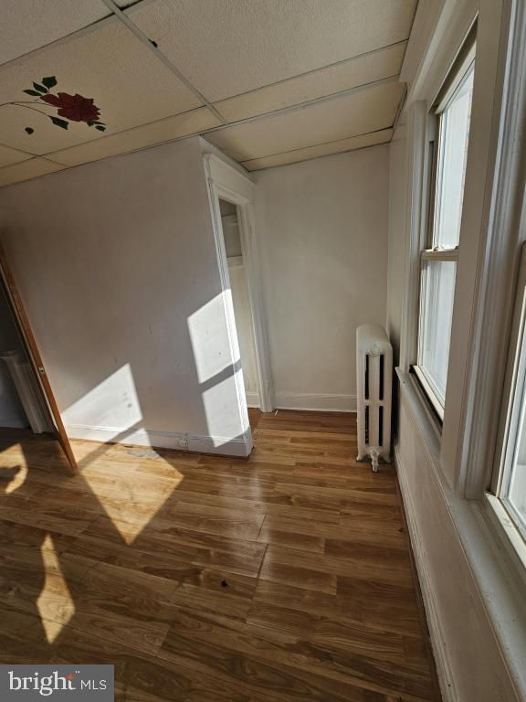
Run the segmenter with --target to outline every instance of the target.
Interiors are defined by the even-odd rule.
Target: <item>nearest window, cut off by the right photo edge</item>
[[[492,492],[526,539],[526,245],[515,302],[503,413],[505,441],[491,485]]]

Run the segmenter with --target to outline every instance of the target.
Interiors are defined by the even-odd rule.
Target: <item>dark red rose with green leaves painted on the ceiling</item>
[[[100,122],[100,109],[93,98],[85,98],[78,92],[75,95],[70,95],[68,92],[58,92],[57,94],[50,92],[57,83],[55,76],[47,76],[40,80],[39,83],[33,82],[32,88],[24,90],[26,95],[30,95],[35,100],[18,100],[5,102],[4,104],[16,105],[17,107],[24,107],[26,110],[39,112],[61,129],[68,129],[69,122],[85,122],[89,127],[95,127],[99,132],[105,132],[106,124]],[[57,114],[49,114],[49,112],[40,109],[47,106],[56,108]],[[34,128],[29,126],[25,128],[25,131],[29,135],[35,133]]]

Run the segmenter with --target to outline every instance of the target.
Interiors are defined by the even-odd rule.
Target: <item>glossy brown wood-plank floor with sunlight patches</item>
[[[249,461],[0,432],[2,663],[116,698],[437,700],[395,474],[353,415],[251,413]]]

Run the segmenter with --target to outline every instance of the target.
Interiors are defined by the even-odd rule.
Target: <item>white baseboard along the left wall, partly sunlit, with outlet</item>
[[[248,428],[244,434],[233,439],[221,436],[189,434],[181,431],[154,431],[149,429],[124,430],[115,427],[67,424],[69,439],[122,443],[133,446],[152,446],[159,449],[174,449],[199,453],[246,457],[252,451],[252,435]]]

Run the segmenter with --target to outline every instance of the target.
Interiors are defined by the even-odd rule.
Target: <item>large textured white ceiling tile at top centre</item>
[[[156,0],[126,10],[210,101],[409,37],[417,0]]]

